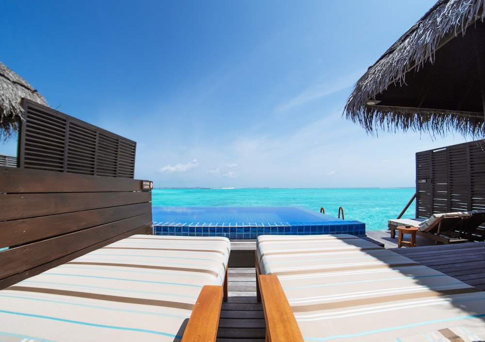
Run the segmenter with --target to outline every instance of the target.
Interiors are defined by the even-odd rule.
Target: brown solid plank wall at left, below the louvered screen
[[[0,289],[130,235],[151,234],[150,184],[1,168]]]

